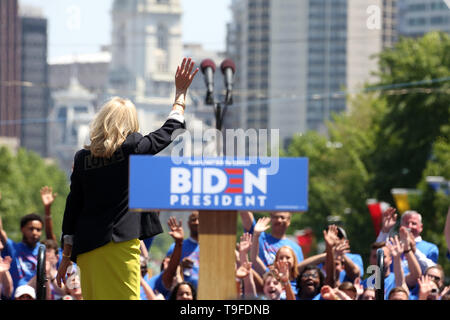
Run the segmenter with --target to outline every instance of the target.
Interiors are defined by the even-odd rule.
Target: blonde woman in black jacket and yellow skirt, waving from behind
[[[185,97],[198,72],[193,68],[186,58],[178,67],[175,102],[160,129],[142,136],[133,103],[114,97],[91,124],[90,145],[75,154],[57,282],[65,282],[68,266],[76,262],[85,300],[140,298],[139,239],[162,228],[157,217],[128,212],[129,156],[157,154],[171,143],[175,130],[185,128]]]

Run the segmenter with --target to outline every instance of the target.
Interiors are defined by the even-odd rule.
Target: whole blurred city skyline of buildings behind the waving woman
[[[450,32],[450,1],[231,0],[226,51],[216,52],[183,43],[181,1],[111,0],[111,43],[51,59],[48,17],[0,1],[0,137],[70,168],[108,97],[135,102],[142,133],[157,129],[173,102],[174,71],[190,56],[198,66],[206,58],[216,63],[217,101],[224,98],[220,63],[236,63],[225,128],[280,129],[285,147],[294,134],[326,133],[332,114],[347,110],[348,95],[374,80],[374,55],[399,37]],[[189,90],[189,130],[215,126],[205,92],[200,73]]]

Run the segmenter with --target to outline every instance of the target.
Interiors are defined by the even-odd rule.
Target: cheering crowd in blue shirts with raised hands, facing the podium
[[[62,249],[53,232],[51,205],[55,194],[50,187],[40,190],[45,215],[25,215],[20,221],[22,241],[8,238],[0,216],[0,292],[3,300],[37,299],[37,255],[46,247],[46,298],[82,300],[80,271],[71,263],[65,281],[56,276]],[[0,199],[1,201],[1,199]],[[450,210],[445,227],[450,242]],[[350,237],[336,225],[323,231],[325,250],[304,257],[302,248],[286,231],[291,213],[274,212],[256,220],[252,212],[240,212],[242,235],[236,244],[236,299],[257,300],[375,300],[377,272],[364,269],[360,254],[351,252]],[[421,238],[422,217],[416,211],[404,212],[400,226],[395,208],[382,214],[381,231],[371,244],[369,263],[377,265],[377,250],[384,252],[385,300],[449,300],[444,269],[437,263],[438,247]],[[199,213],[189,215],[189,235],[182,221],[170,217],[167,225],[173,243],[160,271],[148,268],[152,259],[152,239],[140,243],[141,300],[196,300],[199,273]],[[45,232],[45,239],[42,232]],[[150,240],[150,241],[148,241]],[[448,250],[448,249],[446,249]]]

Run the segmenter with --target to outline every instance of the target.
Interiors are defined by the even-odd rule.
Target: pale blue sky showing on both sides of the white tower
[[[231,0],[180,0],[183,43],[225,50]],[[70,54],[95,53],[111,41],[113,0],[19,0],[42,9],[48,19],[49,60]],[[213,27],[212,27],[213,26]]]

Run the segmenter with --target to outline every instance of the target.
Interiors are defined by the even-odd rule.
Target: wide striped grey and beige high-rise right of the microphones
[[[344,91],[373,80],[372,56],[395,41],[394,3],[233,0],[227,50],[238,108],[229,126],[279,129],[283,145],[296,133],[326,131],[325,121],[347,107]]]

